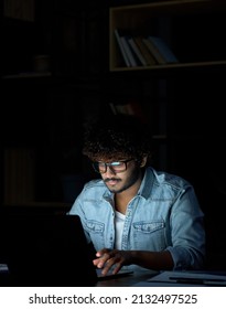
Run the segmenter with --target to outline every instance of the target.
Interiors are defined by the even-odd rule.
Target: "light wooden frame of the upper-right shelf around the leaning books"
[[[212,12],[220,11],[219,7],[216,6],[218,1],[211,0],[176,0],[176,1],[158,1],[146,4],[134,6],[122,6],[112,7],[109,11],[109,71],[147,71],[147,70],[163,70],[163,68],[177,68],[177,67],[206,67],[206,66],[218,66],[225,65],[226,60],[213,58],[205,61],[181,61],[176,64],[166,65],[152,65],[152,66],[136,66],[127,67],[123,64],[123,60],[118,47],[118,43],[115,38],[115,29],[122,29],[132,32],[147,33],[147,29],[154,31],[154,23],[161,28],[161,20],[172,20],[181,15],[206,14]],[[169,32],[169,30],[166,30]],[[174,29],[170,30],[170,36],[173,38]],[[223,29],[219,31],[224,31]],[[158,34],[159,35],[159,34]],[[169,35],[169,34],[168,34]],[[192,33],[191,33],[192,35]],[[191,39],[191,38],[190,38]]]

